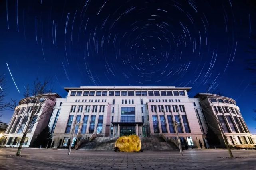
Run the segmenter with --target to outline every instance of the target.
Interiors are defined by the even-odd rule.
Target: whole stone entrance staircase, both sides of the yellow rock
[[[118,137],[96,137],[85,143],[79,150],[114,150]],[[141,137],[142,150],[178,150],[176,145],[166,142],[163,137]]]

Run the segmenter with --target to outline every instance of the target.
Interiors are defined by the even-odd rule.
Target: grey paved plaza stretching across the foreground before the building
[[[115,153],[111,151],[71,151],[52,149],[0,148],[0,169],[109,169],[109,170],[169,170],[169,169],[256,169],[256,150],[232,150],[239,158],[226,158],[227,150],[148,151]]]

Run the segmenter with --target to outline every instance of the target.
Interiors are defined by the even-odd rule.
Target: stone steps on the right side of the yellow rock
[[[142,137],[142,150],[178,150],[176,145],[171,142],[165,142],[162,137]]]

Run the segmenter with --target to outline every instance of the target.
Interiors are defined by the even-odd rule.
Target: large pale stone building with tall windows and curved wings
[[[175,86],[81,86],[64,89],[67,97],[54,98],[50,120],[44,123],[52,133],[53,147],[67,147],[73,132],[73,141],[130,134],[177,139],[175,122],[178,122],[181,142],[186,141],[189,146],[200,147],[199,143],[202,143],[203,147],[208,147],[206,132],[209,125],[215,128],[220,147],[224,146],[220,128],[225,129],[230,145],[252,144],[239,107],[230,98],[202,93],[189,98],[187,92],[191,88]],[[217,113],[214,106],[220,105],[223,105],[222,113]],[[214,114],[218,119],[211,116]],[[11,121],[9,131],[15,126]],[[8,140],[16,133],[9,131],[6,131],[6,142],[2,146],[12,146],[10,143],[7,145]]]

